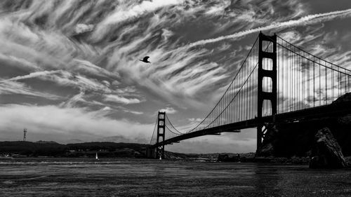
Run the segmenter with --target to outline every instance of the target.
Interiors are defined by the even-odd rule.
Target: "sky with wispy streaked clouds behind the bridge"
[[[3,0],[0,12],[1,141],[27,128],[29,141],[148,143],[160,109],[194,124],[260,31],[351,63],[350,0]],[[256,133],[166,149],[255,151]]]

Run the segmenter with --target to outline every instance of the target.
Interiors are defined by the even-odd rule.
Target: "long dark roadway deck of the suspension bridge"
[[[172,137],[158,144],[150,146],[151,148],[160,147],[166,144],[178,143],[181,140],[187,140],[193,137],[199,137],[203,135],[218,135],[219,133],[229,132],[237,133],[238,130],[245,128],[256,128],[259,123],[289,123],[293,121],[307,121],[314,118],[323,117],[336,117],[351,114],[351,101],[349,102],[333,102],[328,105],[320,107],[312,107],[309,109],[303,109],[298,111],[290,111],[283,114],[276,114],[274,116],[264,116],[261,120],[254,118],[247,121],[240,121],[237,123],[230,123],[227,125],[220,125],[213,128],[207,128],[204,130],[194,131],[192,133],[185,133],[177,137]]]

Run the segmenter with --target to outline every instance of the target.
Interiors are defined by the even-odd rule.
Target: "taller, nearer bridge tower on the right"
[[[268,43],[272,44],[272,50],[265,51],[263,48],[263,41],[267,41]],[[267,62],[272,60],[272,69],[267,69],[263,67],[263,61],[267,59]],[[270,90],[272,92],[265,92],[263,90],[263,79],[267,77],[272,79],[272,85]],[[264,137],[263,130],[263,121],[262,121],[262,114],[263,114],[263,102],[265,100],[270,101],[272,107],[272,116],[274,117],[277,114],[277,35],[274,34],[273,36],[266,36],[262,32],[260,32],[258,36],[258,95],[257,95],[257,107],[258,107],[258,122],[259,125],[257,127],[257,149],[262,145],[262,140]]]

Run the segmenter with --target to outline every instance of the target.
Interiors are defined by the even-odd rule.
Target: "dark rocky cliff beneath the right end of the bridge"
[[[336,102],[350,102],[351,93],[339,97]],[[263,145],[258,156],[292,157],[316,156],[319,130],[328,128],[344,156],[351,156],[351,114],[339,117],[325,117],[294,123],[267,125]]]

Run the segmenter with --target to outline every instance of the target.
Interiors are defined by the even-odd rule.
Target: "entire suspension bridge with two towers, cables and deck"
[[[351,113],[351,70],[316,57],[274,34],[260,32],[225,93],[201,122],[178,130],[159,111],[149,158],[164,158],[164,146],[203,135],[257,128],[257,149],[269,124]]]

